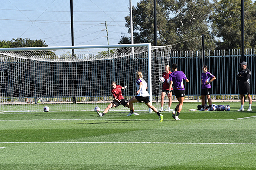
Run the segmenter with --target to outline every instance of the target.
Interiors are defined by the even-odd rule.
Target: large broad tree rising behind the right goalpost
[[[206,49],[215,48],[215,39],[208,27],[213,3],[209,0],[157,0],[157,45],[172,45],[174,50],[201,50],[201,34],[207,38]],[[126,16],[126,27],[130,17]],[[142,0],[133,6],[134,43],[154,44],[153,0]],[[129,30],[130,31],[130,30]],[[194,37],[198,39],[190,40]],[[121,37],[127,42],[128,37]],[[189,40],[189,41],[187,41]],[[185,42],[183,42],[185,41]],[[183,42],[183,43],[180,43]]]

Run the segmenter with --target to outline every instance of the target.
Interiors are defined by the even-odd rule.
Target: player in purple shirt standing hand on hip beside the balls
[[[204,111],[204,105],[205,105],[205,95],[208,99],[209,108],[207,111],[210,111],[212,106],[212,99],[211,99],[211,83],[216,79],[213,74],[211,74],[208,70],[207,65],[203,66],[203,72],[201,74],[201,84],[202,84],[202,90],[201,90],[201,96],[202,96],[202,108],[199,111]]]

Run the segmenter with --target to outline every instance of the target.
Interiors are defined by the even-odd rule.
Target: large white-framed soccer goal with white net
[[[135,72],[141,70],[151,101],[159,107],[158,83],[170,62],[172,46],[150,44],[0,48],[0,111],[103,111],[113,101],[111,82],[136,95]],[[137,103],[135,110],[148,110]],[[123,106],[112,111],[129,110]]]

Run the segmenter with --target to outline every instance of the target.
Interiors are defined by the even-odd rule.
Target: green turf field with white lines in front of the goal
[[[255,170],[256,103],[188,111],[200,104],[161,123],[148,111],[0,113],[0,170]]]

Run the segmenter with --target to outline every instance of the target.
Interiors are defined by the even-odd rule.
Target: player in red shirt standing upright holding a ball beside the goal
[[[164,70],[165,72],[163,72],[162,74],[162,77],[165,79],[164,83],[163,83],[163,90],[162,90],[162,93],[161,93],[161,109],[160,111],[164,111],[163,110],[163,103],[164,103],[164,97],[166,95],[166,93],[168,93],[169,91],[169,83],[167,82],[167,79],[169,79],[169,74],[171,74],[172,72],[170,71],[171,68],[169,65],[166,65],[164,67]],[[168,96],[168,110],[167,111],[173,111],[173,109],[170,109],[171,108],[171,105],[172,105],[172,89],[171,89],[171,92],[170,92],[170,95]]]

